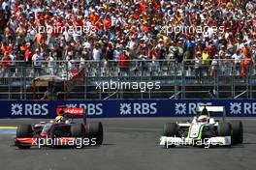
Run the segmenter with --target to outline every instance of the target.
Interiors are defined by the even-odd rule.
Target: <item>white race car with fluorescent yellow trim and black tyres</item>
[[[210,115],[222,114],[222,120]],[[167,123],[164,125],[160,145],[166,148],[175,146],[232,146],[242,143],[241,121],[225,120],[224,106],[203,105],[197,108],[197,116],[192,122]]]

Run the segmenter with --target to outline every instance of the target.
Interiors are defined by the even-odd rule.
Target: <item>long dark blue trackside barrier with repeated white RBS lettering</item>
[[[200,104],[225,106],[228,117],[256,117],[256,99],[0,100],[0,118],[54,118],[56,107],[85,108],[88,118],[192,117]]]

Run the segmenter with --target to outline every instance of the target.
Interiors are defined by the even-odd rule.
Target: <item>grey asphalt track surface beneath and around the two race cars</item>
[[[242,119],[244,143],[232,148],[158,146],[163,124],[176,118],[97,119],[104,125],[101,147],[83,149],[30,149],[10,147],[15,134],[0,134],[1,170],[255,170],[256,119]],[[38,120],[0,120],[16,126]]]

